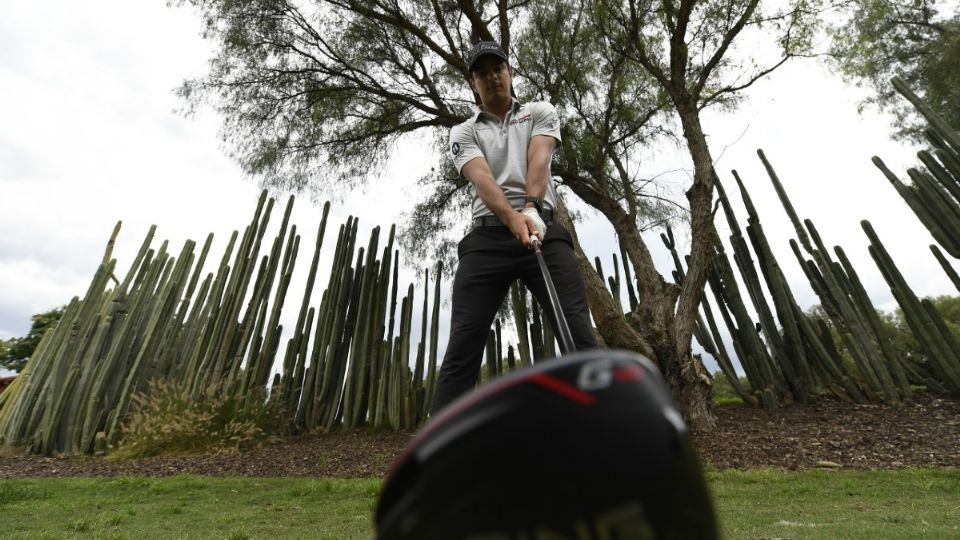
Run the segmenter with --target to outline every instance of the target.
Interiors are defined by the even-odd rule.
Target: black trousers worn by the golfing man
[[[551,224],[541,251],[577,350],[596,347],[586,289],[570,233],[559,224]],[[453,280],[450,340],[440,367],[433,412],[476,386],[487,334],[514,280],[523,280],[557,329],[536,255],[514,238],[507,227],[473,229],[460,241],[457,253],[460,264]]]

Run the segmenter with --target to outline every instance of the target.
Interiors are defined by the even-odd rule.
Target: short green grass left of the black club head
[[[369,540],[378,480],[51,478],[0,480],[11,538]]]

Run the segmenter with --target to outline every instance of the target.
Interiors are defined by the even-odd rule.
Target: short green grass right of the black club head
[[[960,470],[708,475],[724,538],[960,538]]]

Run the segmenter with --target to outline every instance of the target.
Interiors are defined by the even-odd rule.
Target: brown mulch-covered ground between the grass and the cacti
[[[906,405],[824,400],[774,411],[718,407],[719,425],[694,433],[701,461],[714,469],[893,469],[960,467],[960,400],[918,395]],[[104,458],[0,456],[0,478],[44,476],[384,475],[412,432],[352,431],[282,439],[243,453]]]

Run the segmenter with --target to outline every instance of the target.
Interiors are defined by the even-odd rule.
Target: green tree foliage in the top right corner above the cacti
[[[942,5],[942,2],[940,3]],[[919,139],[926,122],[900,99],[900,77],[960,129],[960,14],[936,0],[848,2],[831,27],[833,64],[848,80],[872,90],[864,105],[891,112],[897,135]]]

